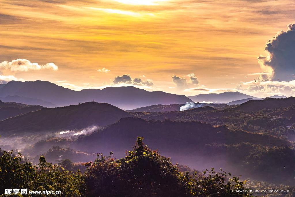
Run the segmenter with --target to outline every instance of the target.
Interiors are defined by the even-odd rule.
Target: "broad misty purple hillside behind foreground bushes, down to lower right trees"
[[[212,127],[197,121],[122,118],[88,136],[79,136],[71,148],[83,152],[102,152],[105,155],[112,151],[113,157],[121,158],[125,156],[126,150],[132,148],[137,136],[143,137],[151,149],[158,149],[162,155],[171,157],[174,163],[186,164],[195,169],[218,166],[235,175],[255,180],[271,181],[282,177],[285,181],[294,180],[293,174],[286,170],[295,169],[294,150],[288,148],[291,145],[289,141],[271,135],[229,130],[225,126]],[[258,157],[262,159],[257,160]],[[282,164],[286,159],[291,161],[290,164]],[[268,165],[269,162],[271,165]],[[269,171],[276,173],[266,176]]]

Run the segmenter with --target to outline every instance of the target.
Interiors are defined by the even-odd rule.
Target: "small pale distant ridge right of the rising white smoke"
[[[250,95],[246,95],[240,92],[223,92],[220,94],[210,93],[210,94],[199,94],[195,96],[189,96],[191,100],[194,102],[221,102],[221,103],[229,103],[235,100],[242,100],[242,99],[259,99],[258,97],[253,97]]]

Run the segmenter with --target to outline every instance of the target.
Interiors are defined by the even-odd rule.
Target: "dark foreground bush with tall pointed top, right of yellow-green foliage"
[[[238,178],[225,183],[229,174],[213,168],[206,174],[181,172],[170,158],[150,150],[138,137],[125,158],[97,155],[85,172],[85,181],[87,196],[247,196],[230,193],[230,189],[244,189]]]

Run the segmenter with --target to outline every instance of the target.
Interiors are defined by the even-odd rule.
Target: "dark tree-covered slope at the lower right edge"
[[[294,184],[295,150],[288,146],[262,146],[251,143],[207,144],[207,154],[224,155],[243,177],[270,183]]]

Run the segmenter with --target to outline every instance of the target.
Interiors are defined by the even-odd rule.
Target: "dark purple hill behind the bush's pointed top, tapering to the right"
[[[290,143],[273,136],[248,133],[245,131],[230,131],[226,127],[212,127],[209,124],[197,121],[145,121],[140,118],[122,118],[101,131],[88,136],[80,136],[74,143],[74,147],[80,147],[83,151],[117,150],[124,155],[125,150],[130,149],[134,139],[142,136],[145,142],[152,148],[158,148],[161,152],[173,152],[174,154],[193,151],[204,148],[205,144],[237,144],[250,142],[252,144],[281,146]],[[267,138],[267,140],[266,140]]]

